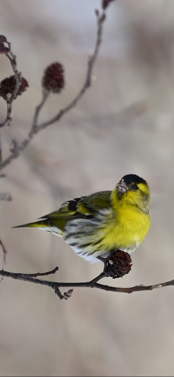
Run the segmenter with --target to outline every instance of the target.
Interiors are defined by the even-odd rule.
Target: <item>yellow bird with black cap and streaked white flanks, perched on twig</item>
[[[151,223],[150,188],[136,174],[124,175],[112,191],[100,191],[65,201],[57,211],[34,223],[62,237],[91,263],[109,256],[111,250],[133,252],[145,238]]]

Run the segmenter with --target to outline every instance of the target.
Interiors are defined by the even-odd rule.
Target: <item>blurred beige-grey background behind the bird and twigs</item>
[[[51,95],[40,121],[78,93],[96,38],[100,0],[1,0],[0,34],[11,42],[29,88],[0,130],[3,156],[28,134],[41,100],[43,70],[65,69],[66,87]],[[40,132],[4,170],[0,239],[6,270],[44,272],[51,280],[88,281],[90,264],[35,221],[68,199],[112,190],[125,174],[151,187],[152,225],[132,255],[131,272],[104,284],[130,287],[174,278],[174,1],[117,0],[108,7],[92,86],[59,123]],[[11,75],[0,56],[0,80]],[[0,100],[0,122],[5,104]],[[2,257],[1,257],[2,259]],[[49,279],[49,278],[48,278]],[[65,289],[62,289],[64,292]],[[174,287],[131,295],[75,289],[68,301],[42,286],[0,284],[0,376],[174,376]]]

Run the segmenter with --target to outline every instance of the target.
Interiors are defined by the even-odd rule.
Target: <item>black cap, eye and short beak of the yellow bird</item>
[[[123,194],[126,191],[138,190],[139,189],[138,185],[140,183],[143,183],[144,185],[148,186],[147,182],[143,178],[139,177],[138,175],[127,174],[127,175],[124,175],[124,177],[120,179],[120,181],[116,185],[116,188],[119,194]]]

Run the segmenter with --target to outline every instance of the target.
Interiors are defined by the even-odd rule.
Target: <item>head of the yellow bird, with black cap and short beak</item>
[[[136,174],[124,175],[116,185],[116,196],[126,204],[134,205],[144,212],[149,210],[150,190],[147,182]]]

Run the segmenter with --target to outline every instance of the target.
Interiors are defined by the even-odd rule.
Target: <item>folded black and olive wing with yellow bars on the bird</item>
[[[95,213],[110,206],[111,191],[100,191],[81,198],[75,198],[61,204],[59,210],[43,216],[41,219],[59,220],[94,216]]]

